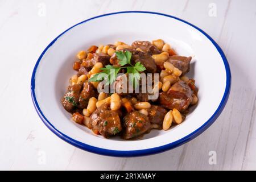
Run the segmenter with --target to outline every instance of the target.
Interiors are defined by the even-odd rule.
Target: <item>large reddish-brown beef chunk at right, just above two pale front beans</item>
[[[159,94],[159,101],[167,109],[184,111],[192,101],[192,90],[184,81],[178,81],[167,92]]]

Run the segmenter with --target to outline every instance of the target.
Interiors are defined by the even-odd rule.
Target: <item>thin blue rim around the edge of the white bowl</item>
[[[35,74],[36,74],[36,69],[38,68],[40,60],[42,59],[44,53],[46,53],[48,48],[51,47],[56,42],[56,40],[60,38],[60,36],[65,34],[65,32],[71,30],[73,27],[76,27],[81,23],[86,23],[89,20],[96,19],[96,18],[101,18],[102,16],[109,16],[109,15],[114,15],[114,14],[124,14],[124,13],[143,13],[143,14],[162,15],[162,16],[167,16],[169,18],[174,18],[174,19],[179,20],[183,23],[186,23],[189,26],[192,26],[192,27],[196,28],[197,30],[199,30],[201,33],[203,33],[213,43],[213,45],[216,47],[217,51],[220,53],[220,55],[222,57],[222,60],[224,62],[225,69],[226,69],[226,88],[225,88],[224,96],[222,97],[222,100],[221,100],[220,105],[218,106],[217,110],[214,112],[212,117],[210,117],[208,119],[208,121],[204,123],[204,125],[199,127],[199,129],[193,131],[191,134],[189,134],[189,135],[187,135],[187,136],[185,136],[185,137],[183,137],[179,140],[176,140],[175,142],[168,143],[168,144],[165,144],[165,145],[159,146],[159,147],[147,148],[147,149],[143,149],[143,150],[132,150],[132,151],[108,150],[108,149],[105,149],[105,148],[98,148],[98,147],[90,146],[88,144],[85,144],[85,143],[79,142],[75,139],[72,139],[71,137],[69,137],[69,136],[61,133],[59,130],[57,130],[51,124],[51,122],[49,122],[48,119],[44,116],[42,110],[39,107],[38,101],[36,100],[36,96],[35,96]],[[39,117],[42,119],[43,123],[48,127],[49,130],[51,130],[55,135],[57,135],[57,137],[63,139],[65,142],[68,142],[69,144],[72,144],[75,147],[81,148],[82,150],[93,152],[95,154],[108,155],[108,156],[118,156],[118,157],[133,157],[133,156],[152,155],[152,154],[157,154],[157,153],[164,152],[164,151],[167,151],[167,150],[171,150],[172,148],[178,147],[181,144],[184,144],[184,143],[188,142],[189,140],[192,140],[193,138],[196,138],[201,133],[203,133],[203,131],[205,131],[206,129],[208,129],[208,127],[210,125],[212,125],[212,123],[218,118],[218,116],[221,114],[222,110],[224,109],[224,107],[226,105],[226,102],[228,101],[228,97],[229,97],[229,93],[230,93],[230,86],[231,86],[231,73],[230,73],[228,60],[226,59],[226,56],[224,55],[224,52],[222,51],[220,46],[218,46],[218,44],[208,34],[206,34],[203,30],[201,30],[200,28],[196,27],[195,25],[193,25],[193,24],[191,24],[191,23],[189,23],[189,22],[187,22],[183,19],[177,18],[177,17],[172,16],[172,15],[156,13],[156,12],[151,12],[151,11],[119,11],[119,12],[115,12],[115,13],[99,15],[99,16],[95,16],[93,18],[86,19],[86,20],[84,20],[80,23],[77,23],[74,26],[68,28],[63,33],[61,33],[59,36],[57,36],[57,38],[55,38],[44,49],[42,54],[39,56],[38,61],[36,61],[34,70],[32,72],[32,77],[31,77],[31,96],[32,96],[32,101],[33,101],[33,104],[35,106],[36,112],[38,113]]]

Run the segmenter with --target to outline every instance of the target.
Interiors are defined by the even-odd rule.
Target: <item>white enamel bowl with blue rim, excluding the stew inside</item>
[[[139,140],[105,139],[71,121],[61,105],[75,55],[91,45],[119,40],[163,39],[183,56],[193,56],[189,77],[196,80],[199,103],[183,123],[168,131],[152,130]],[[204,31],[174,16],[127,11],[96,16],[54,39],[36,62],[31,78],[35,109],[58,137],[83,150],[110,156],[155,154],[180,146],[201,134],[220,115],[230,91],[230,69],[221,48]]]

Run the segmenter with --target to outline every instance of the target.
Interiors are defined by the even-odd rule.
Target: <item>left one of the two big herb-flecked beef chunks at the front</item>
[[[98,131],[103,137],[118,134],[122,130],[118,111],[109,110],[108,105],[104,104],[90,115],[90,122],[93,131]]]

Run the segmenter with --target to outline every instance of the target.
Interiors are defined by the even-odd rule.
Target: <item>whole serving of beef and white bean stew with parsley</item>
[[[185,76],[192,57],[177,55],[162,39],[91,46],[77,59],[77,74],[61,102],[76,123],[105,138],[137,139],[152,129],[168,130],[183,122],[189,107],[198,102],[195,80]],[[121,73],[125,76],[118,76]],[[143,74],[154,79],[143,81]],[[131,92],[123,92],[130,83]],[[156,98],[150,98],[153,93]]]

